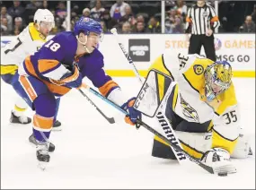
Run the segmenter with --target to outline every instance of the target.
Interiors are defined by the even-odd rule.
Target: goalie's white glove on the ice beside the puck
[[[236,168],[234,168],[230,160],[229,152],[222,148],[213,148],[206,151],[201,161],[212,167],[216,173],[236,173]]]

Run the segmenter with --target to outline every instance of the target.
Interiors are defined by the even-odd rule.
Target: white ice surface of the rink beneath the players
[[[115,80],[128,98],[139,91],[135,78]],[[234,78],[234,84],[242,125],[255,152],[255,79]],[[57,148],[41,171],[28,142],[32,126],[9,124],[14,97],[12,87],[1,81],[1,188],[255,188],[255,156],[233,160],[238,172],[227,177],[208,174],[192,162],[187,168],[175,160],[156,159],[151,156],[153,134],[122,119],[108,124],[75,90],[61,99],[63,130],[52,132]],[[90,97],[108,116],[117,116],[102,100]],[[27,114],[32,116],[31,110]]]

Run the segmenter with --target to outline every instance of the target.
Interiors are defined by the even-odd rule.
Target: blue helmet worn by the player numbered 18
[[[74,33],[75,36],[80,32],[84,32],[85,35],[89,35],[90,32],[96,34],[102,34],[102,25],[100,22],[95,22],[93,19],[82,16],[77,22],[75,22]]]

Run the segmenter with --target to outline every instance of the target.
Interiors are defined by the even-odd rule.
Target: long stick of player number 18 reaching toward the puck
[[[90,91],[91,93],[93,93],[98,98],[100,98],[103,101],[105,101],[106,103],[110,104],[110,106],[112,106],[113,108],[118,109],[120,112],[122,112],[123,114],[128,116],[128,112],[126,110],[124,110],[123,108],[120,108],[116,103],[112,102],[110,99],[107,99],[106,97],[102,96],[102,94],[100,94],[98,91],[93,90],[91,87],[89,87],[87,85],[84,85],[84,88],[87,89],[88,91]],[[197,159],[197,158],[195,158],[193,156],[190,156],[190,154],[188,154],[180,146],[177,145],[177,142],[172,142],[172,139],[171,140],[167,139],[165,136],[163,136],[163,134],[158,133],[156,130],[154,130],[154,128],[152,128],[151,126],[147,125],[142,120],[137,119],[137,127],[139,127],[139,125],[144,126],[148,131],[150,131],[151,133],[153,133],[156,136],[158,136],[164,142],[170,144],[170,146],[172,146],[173,149],[175,149],[177,151],[181,151],[190,161],[195,162],[196,164],[199,165],[199,167],[204,168],[205,170],[207,170],[207,172],[209,172],[211,174],[214,174],[216,172],[212,167],[209,167],[206,164],[202,163],[199,159]]]

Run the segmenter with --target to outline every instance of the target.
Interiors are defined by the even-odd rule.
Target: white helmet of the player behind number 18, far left
[[[48,9],[38,9],[34,15],[34,23],[40,25],[41,22],[48,23],[52,29],[55,26],[54,16]]]

